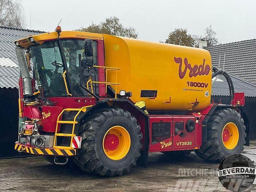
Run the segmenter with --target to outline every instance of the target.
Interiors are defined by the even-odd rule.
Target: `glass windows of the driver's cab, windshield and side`
[[[57,41],[49,41],[41,45],[30,47],[32,61],[34,64],[34,74],[38,87],[41,88],[44,97],[65,97],[68,96],[63,73],[67,71],[70,79],[66,74],[66,80],[71,84],[69,92],[74,96],[90,96],[80,86],[79,80],[79,60],[78,54],[84,54],[84,40],[80,39],[62,39],[64,56],[67,62],[67,68],[61,59],[61,50]],[[93,42],[93,64],[97,65],[97,46]],[[97,69],[97,68],[96,68]],[[98,72],[94,71],[92,78],[98,80]],[[84,85],[88,79],[83,79]],[[68,85],[68,83],[67,83]],[[98,94],[98,87],[94,87],[95,93]]]

